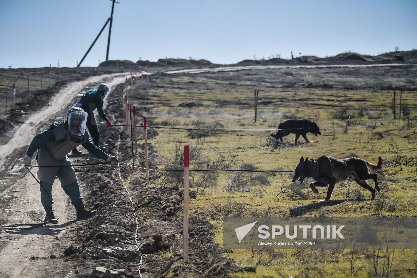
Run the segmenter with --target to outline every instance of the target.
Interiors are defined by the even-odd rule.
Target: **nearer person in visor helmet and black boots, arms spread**
[[[119,162],[117,157],[106,154],[91,142],[88,132],[85,132],[87,119],[87,112],[79,107],[71,107],[67,112],[67,119],[52,124],[49,129],[33,137],[28,152],[26,152],[24,159],[26,166],[30,166],[33,153],[36,150],[38,150],[36,155],[38,166],[56,166],[38,168],[40,202],[42,202],[45,208],[45,222],[58,223],[52,209],[52,204],[54,203],[52,184],[55,177],[58,177],[62,189],[74,205],[77,211],[77,219],[93,216],[97,212],[97,210],[88,211],[84,208],[74,168],[68,166],[71,165],[71,162],[67,155],[72,149],[83,145],[95,157],[111,162],[111,164]]]

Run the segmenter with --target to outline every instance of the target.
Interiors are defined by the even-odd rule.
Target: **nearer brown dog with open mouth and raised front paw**
[[[294,178],[295,182],[299,179],[300,183],[304,182],[306,177],[312,177],[315,182],[310,183],[310,188],[314,193],[319,194],[319,190],[315,186],[328,187],[327,196],[322,201],[330,200],[332,197],[334,184],[341,182],[352,177],[363,188],[369,190],[372,193],[372,199],[375,198],[375,189],[369,186],[366,182],[367,179],[373,179],[375,187],[379,192],[377,174],[369,174],[368,167],[372,170],[382,168],[382,158],[379,157],[378,165],[367,162],[364,159],[349,157],[344,159],[337,159],[334,157],[322,156],[318,159],[304,160],[300,159],[300,163],[295,168]]]

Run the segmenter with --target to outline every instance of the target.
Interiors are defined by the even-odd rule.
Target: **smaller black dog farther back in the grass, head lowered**
[[[280,130],[281,129],[281,130]],[[298,138],[303,136],[303,138],[306,140],[306,142],[312,142],[307,139],[306,134],[307,133],[313,133],[317,136],[317,134],[322,135],[320,133],[320,129],[317,126],[317,124],[314,121],[306,120],[306,119],[300,119],[300,120],[286,120],[283,121],[278,126],[278,130],[276,133],[272,133],[271,136],[275,137],[275,139],[278,141],[281,140],[282,143],[282,137],[287,136],[290,133],[296,134],[295,136],[295,144],[297,144]]]

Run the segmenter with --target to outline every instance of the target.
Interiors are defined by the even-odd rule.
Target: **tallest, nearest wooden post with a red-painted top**
[[[183,258],[188,261],[188,202],[190,177],[190,145],[184,145],[184,224],[183,224]]]

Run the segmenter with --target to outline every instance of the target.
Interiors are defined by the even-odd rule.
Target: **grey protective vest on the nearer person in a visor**
[[[76,142],[76,140],[73,139],[68,132],[67,121],[64,121],[52,131],[55,135],[55,140],[46,142],[45,149],[47,149],[55,159],[65,159],[67,154],[69,154],[74,148],[88,142],[90,139],[88,132],[85,132],[84,135],[81,136],[80,141]]]

